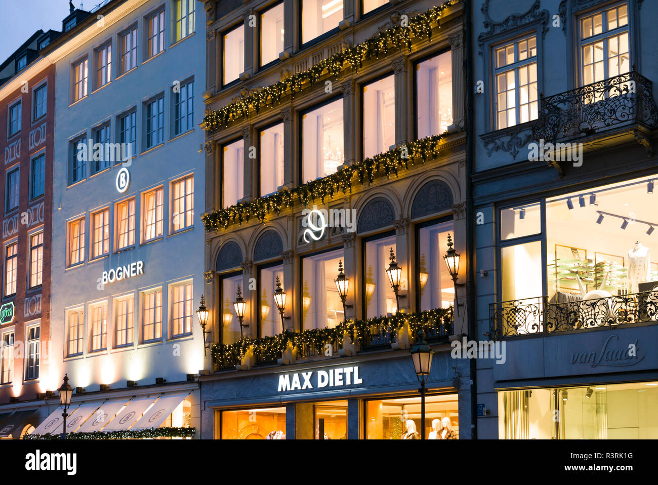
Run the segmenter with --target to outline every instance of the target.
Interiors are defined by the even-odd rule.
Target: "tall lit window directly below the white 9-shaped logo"
[[[301,317],[303,330],[334,328],[345,320],[343,303],[336,288],[338,261],[343,249],[302,259]]]

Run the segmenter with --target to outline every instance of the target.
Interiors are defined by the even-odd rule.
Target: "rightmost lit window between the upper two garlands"
[[[452,122],[452,54],[444,52],[416,64],[418,138],[440,135]]]

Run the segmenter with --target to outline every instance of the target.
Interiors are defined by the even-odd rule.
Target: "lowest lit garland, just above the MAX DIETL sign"
[[[293,347],[301,349],[312,346],[318,352],[324,352],[326,344],[334,345],[334,342],[343,340],[343,334],[347,332],[352,343],[357,342],[361,348],[368,344],[366,342],[367,330],[370,326],[386,328],[388,332],[399,330],[404,324],[409,324],[409,330],[415,335],[421,328],[431,326],[443,326],[446,332],[451,330],[453,323],[453,308],[427,310],[421,313],[405,314],[395,313],[390,317],[376,317],[367,320],[346,320],[336,325],[335,328],[311,328],[303,332],[282,332],[272,337],[251,339],[241,338],[234,344],[213,344],[211,355],[213,362],[220,369],[231,367],[240,363],[253,345],[253,352],[263,361],[276,361],[280,359],[282,352],[291,343]],[[441,322],[437,324],[437,322]]]

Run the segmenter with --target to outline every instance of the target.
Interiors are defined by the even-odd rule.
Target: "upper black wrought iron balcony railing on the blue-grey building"
[[[651,130],[658,123],[658,108],[651,94],[651,81],[635,68],[594,84],[541,97],[540,116],[532,128],[535,140],[588,136],[622,124]]]

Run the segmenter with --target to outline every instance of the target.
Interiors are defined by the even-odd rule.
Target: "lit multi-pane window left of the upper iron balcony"
[[[496,127],[537,119],[537,39],[535,36],[495,49]]]

